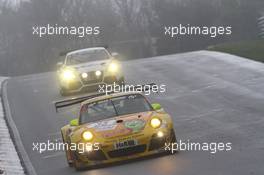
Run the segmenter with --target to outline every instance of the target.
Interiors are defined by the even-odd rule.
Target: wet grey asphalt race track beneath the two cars
[[[63,152],[32,151],[33,142],[60,139],[60,127],[74,118],[57,114],[61,99],[55,73],[15,77],[7,97],[22,143],[39,175],[260,175],[264,174],[264,64],[199,51],[123,63],[128,83],[165,84],[151,96],[173,116],[178,140],[231,142],[229,152],[179,154],[76,172]]]

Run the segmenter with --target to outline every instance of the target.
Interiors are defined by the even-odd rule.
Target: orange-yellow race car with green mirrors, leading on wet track
[[[162,153],[166,142],[176,142],[170,115],[135,92],[88,98],[61,133],[77,170]]]

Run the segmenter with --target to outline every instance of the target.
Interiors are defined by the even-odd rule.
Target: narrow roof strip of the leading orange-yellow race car
[[[106,100],[106,99],[115,98],[115,97],[122,97],[125,95],[137,95],[137,94],[142,95],[142,93],[140,92],[119,92],[119,93],[113,93],[109,95],[102,95],[99,97],[94,97],[94,98],[85,100],[84,102],[81,103],[81,106],[85,104],[93,103],[96,101]]]

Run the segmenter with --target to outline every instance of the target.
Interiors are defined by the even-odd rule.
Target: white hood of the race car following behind
[[[105,67],[110,63],[111,60],[101,60],[101,61],[93,61],[93,62],[87,62],[82,63],[78,65],[73,65],[75,70],[78,72],[90,72],[90,71],[96,71],[96,70],[104,70]]]

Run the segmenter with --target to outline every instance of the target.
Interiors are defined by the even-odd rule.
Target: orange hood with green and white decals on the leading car
[[[95,135],[105,139],[120,137],[141,132],[144,130],[149,119],[153,115],[155,115],[155,112],[153,111],[123,115],[116,118],[89,123],[84,127],[91,130]]]

